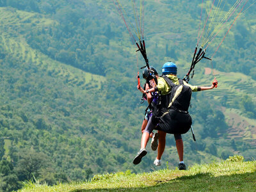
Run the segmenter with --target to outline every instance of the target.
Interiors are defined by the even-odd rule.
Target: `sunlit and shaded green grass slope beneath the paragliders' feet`
[[[242,156],[211,164],[195,164],[186,171],[159,170],[151,173],[95,175],[90,182],[47,186],[26,183],[19,191],[255,191],[256,161]]]

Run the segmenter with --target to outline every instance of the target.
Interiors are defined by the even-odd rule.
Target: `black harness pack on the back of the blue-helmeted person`
[[[192,90],[182,79],[179,79],[179,84],[174,84],[167,76],[161,77],[171,90],[166,95],[159,95],[152,122],[157,125],[156,129],[159,131],[185,134],[192,124],[192,118],[188,113]]]

